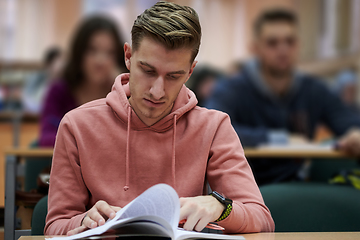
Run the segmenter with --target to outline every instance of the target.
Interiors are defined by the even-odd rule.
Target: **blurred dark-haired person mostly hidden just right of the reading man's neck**
[[[210,97],[217,80],[222,76],[219,70],[210,66],[197,66],[194,68],[186,85],[195,93],[198,106],[204,107],[205,100]]]

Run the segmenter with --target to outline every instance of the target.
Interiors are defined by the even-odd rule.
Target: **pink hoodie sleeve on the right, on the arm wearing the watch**
[[[227,233],[274,231],[274,221],[265,206],[230,118],[223,113],[219,113],[219,118],[210,149],[207,179],[213,191],[233,200],[232,212],[219,225]]]

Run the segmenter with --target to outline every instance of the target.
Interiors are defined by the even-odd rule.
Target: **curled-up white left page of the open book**
[[[179,214],[180,202],[176,191],[169,185],[157,184],[135,198],[131,203],[117,212],[114,219],[108,220],[104,225],[69,237],[47,239],[71,240],[85,238],[92,235],[100,235],[114,226],[133,221],[132,218],[136,218],[137,220],[154,219],[151,218],[151,216],[164,219],[165,224],[161,224],[164,228],[170,231],[169,235],[173,237],[173,229],[176,229],[179,223]],[[166,224],[166,222],[170,224],[171,228],[167,227],[169,225]]]

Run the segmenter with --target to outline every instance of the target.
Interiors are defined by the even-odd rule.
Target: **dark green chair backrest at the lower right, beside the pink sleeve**
[[[360,191],[321,183],[284,183],[260,188],[276,232],[359,231]]]

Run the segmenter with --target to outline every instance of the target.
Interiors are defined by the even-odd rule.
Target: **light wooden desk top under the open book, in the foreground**
[[[254,233],[240,234],[246,240],[355,240],[360,232],[304,232],[304,233]],[[44,236],[24,236],[20,240],[44,240]]]

